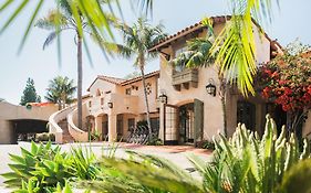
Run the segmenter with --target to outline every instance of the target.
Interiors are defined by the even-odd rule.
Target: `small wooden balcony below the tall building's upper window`
[[[184,69],[182,72],[175,72],[173,74],[172,85],[176,90],[180,90],[182,87],[189,89],[189,87],[198,87],[198,69]]]

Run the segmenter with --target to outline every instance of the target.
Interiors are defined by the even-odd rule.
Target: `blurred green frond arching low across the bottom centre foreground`
[[[204,192],[199,181],[174,163],[153,156],[134,152],[131,154],[132,160],[103,158],[101,164],[105,169],[113,170],[114,175],[117,171],[122,171],[122,176],[103,175],[104,180],[101,182],[89,182],[90,187],[102,186],[112,192],[116,192],[112,187],[126,190],[125,192]],[[120,178],[124,180],[124,183],[120,184]]]

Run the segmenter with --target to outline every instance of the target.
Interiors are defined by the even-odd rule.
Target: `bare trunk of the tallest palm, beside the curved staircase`
[[[82,129],[82,37],[77,35],[77,128]]]

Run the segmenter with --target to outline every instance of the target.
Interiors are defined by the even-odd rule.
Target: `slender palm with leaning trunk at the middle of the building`
[[[138,18],[137,23],[134,23],[132,26],[121,24],[118,25],[118,29],[122,32],[124,44],[116,44],[116,46],[114,46],[115,44],[113,44],[112,46],[114,46],[114,49],[112,49],[111,46],[110,47],[123,57],[135,57],[134,66],[139,68],[143,81],[147,125],[151,135],[152,126],[145,81],[145,66],[147,61],[153,60],[157,56],[157,52],[148,52],[148,50],[154,44],[158,43],[159,40],[165,37],[165,34],[163,32],[164,26],[162,24],[152,26],[149,23],[147,23],[146,19]]]

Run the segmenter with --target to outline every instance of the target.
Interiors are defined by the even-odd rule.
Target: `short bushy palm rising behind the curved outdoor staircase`
[[[56,76],[50,81],[45,99],[59,105],[59,110],[65,107],[65,104],[73,101],[73,95],[76,87],[73,86],[73,79],[69,77]]]

